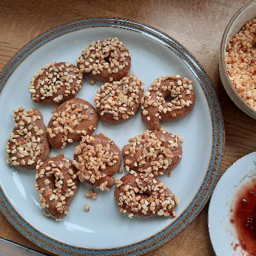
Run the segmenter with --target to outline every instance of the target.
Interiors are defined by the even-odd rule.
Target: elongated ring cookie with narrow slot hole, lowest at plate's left
[[[39,162],[35,188],[45,216],[55,220],[65,217],[76,195],[78,183],[75,166],[63,154]]]

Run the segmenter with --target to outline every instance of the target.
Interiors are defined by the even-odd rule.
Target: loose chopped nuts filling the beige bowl
[[[241,98],[256,110],[256,19],[247,22],[228,43],[225,63],[232,85]]]

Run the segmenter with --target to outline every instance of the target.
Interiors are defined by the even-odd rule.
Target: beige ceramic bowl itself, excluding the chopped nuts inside
[[[244,113],[256,119],[256,111],[253,110],[237,93],[235,88],[228,77],[227,68],[225,65],[225,51],[228,42],[236,35],[241,28],[246,24],[246,22],[256,18],[256,1],[252,1],[243,8],[241,8],[228,22],[227,28],[223,34],[221,45],[220,45],[220,60],[219,60],[219,70],[220,77],[223,86],[228,93],[230,99],[236,104],[236,106],[241,109]]]

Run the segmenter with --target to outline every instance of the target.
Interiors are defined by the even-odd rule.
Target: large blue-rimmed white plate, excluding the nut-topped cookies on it
[[[61,35],[61,36],[60,36]],[[193,111],[164,128],[184,138],[182,161],[172,177],[160,177],[179,196],[177,218],[127,218],[118,212],[113,189],[100,193],[96,201],[84,195],[90,186],[81,184],[70,206],[70,214],[56,222],[45,218],[33,188],[35,172],[12,168],[5,163],[4,143],[13,129],[12,110],[39,108],[47,124],[54,106],[34,104],[28,84],[40,67],[52,61],[76,63],[76,58],[93,40],[117,36],[132,54],[132,72],[147,90],[156,77],[180,74],[193,80],[196,104]],[[138,255],[161,246],[179,234],[206,204],[216,182],[223,156],[223,120],[209,77],[191,54],[172,38],[143,24],[120,19],[87,19],[47,31],[18,52],[0,76],[1,210],[15,227],[39,246],[61,255]],[[100,83],[84,82],[77,97],[93,104]],[[122,149],[132,136],[145,131],[140,112],[122,124],[99,122],[95,134],[104,132]],[[72,159],[77,143],[61,150]],[[59,151],[52,150],[56,155]],[[124,173],[125,174],[125,173]],[[123,174],[123,175],[124,175]],[[115,175],[121,177],[122,175]],[[91,205],[84,212],[85,203]]]

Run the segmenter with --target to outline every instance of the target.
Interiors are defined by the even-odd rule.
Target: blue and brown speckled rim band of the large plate
[[[163,244],[167,243],[173,237],[177,236],[184,228],[188,226],[191,221],[193,221],[200,211],[204,208],[205,204],[209,200],[212,190],[216,186],[218,177],[220,176],[221,161],[223,159],[224,153],[224,142],[225,142],[225,132],[223,117],[221,114],[220,103],[218,101],[217,95],[212,86],[211,80],[207,76],[204,68],[196,60],[196,58],[182,45],[179,44],[172,37],[166,35],[162,31],[151,26],[141,24],[127,19],[118,18],[92,18],[77,20],[74,22],[68,22],[62,24],[55,28],[42,33],[35,39],[31,40],[22,49],[20,49],[15,56],[5,65],[0,73],[0,92],[8,78],[12,75],[15,68],[27,57],[31,52],[36,51],[40,46],[46,44],[47,42],[57,38],[66,33],[76,31],[79,29],[86,28],[119,28],[128,29],[130,31],[135,31],[145,35],[157,42],[160,42],[170,51],[175,52],[191,69],[196,79],[198,79],[202,89],[204,90],[205,97],[207,99],[209,109],[211,110],[211,121],[212,121],[212,152],[211,159],[209,161],[209,167],[206,172],[204,181],[195,198],[189,205],[189,207],[182,212],[179,218],[175,220],[168,227],[164,228],[152,237],[148,237],[143,241],[135,244],[130,244],[128,246],[120,248],[106,248],[102,250],[82,248],[79,246],[72,246],[70,244],[61,243],[56,241],[51,237],[42,234],[40,231],[36,230],[32,225],[30,225],[19,212],[13,209],[12,205],[6,199],[2,189],[0,189],[0,210],[3,212],[4,216],[12,225],[19,230],[19,232],[28,238],[31,242],[41,246],[45,250],[63,256],[70,255],[143,255],[145,253],[156,250]]]

